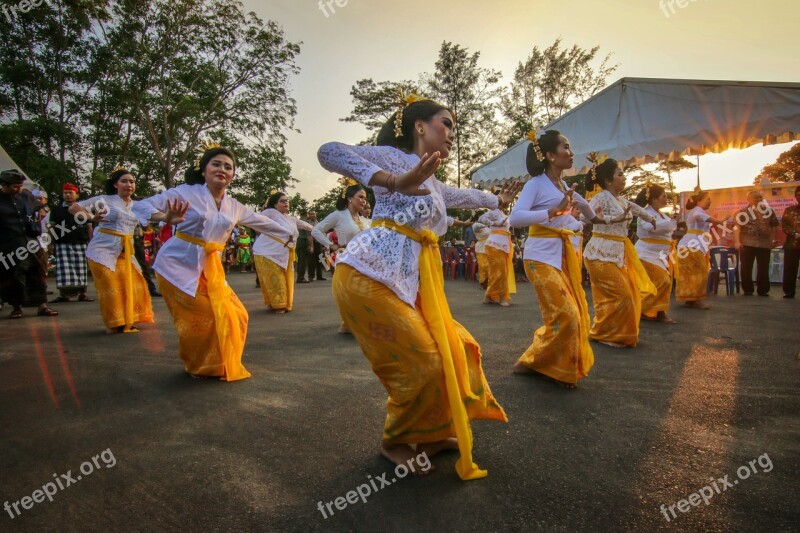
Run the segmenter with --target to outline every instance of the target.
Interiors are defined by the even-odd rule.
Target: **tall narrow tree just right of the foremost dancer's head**
[[[470,54],[467,48],[445,41],[439,49],[436,70],[426,76],[430,97],[452,109],[456,117],[454,153],[449,161],[455,162],[458,187],[463,171],[502,148],[491,135],[497,128],[495,100],[501,94],[497,86],[501,74],[479,67],[479,59],[480,52]]]

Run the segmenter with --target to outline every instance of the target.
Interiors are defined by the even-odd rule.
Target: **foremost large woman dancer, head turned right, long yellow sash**
[[[381,453],[401,464],[415,457],[411,444],[428,456],[458,447],[459,476],[477,479],[487,473],[472,462],[469,419],[507,418],[483,375],[480,347],[450,315],[437,243],[447,207],[494,209],[518,186],[494,196],[437,180],[455,120],[431,100],[406,102],[383,125],[379,146],[319,149],[323,167],[373,187],[376,197],[373,227],[337,261],[333,294],[389,393]]]

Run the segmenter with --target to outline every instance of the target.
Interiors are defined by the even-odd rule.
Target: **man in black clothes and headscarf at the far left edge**
[[[46,272],[37,257],[42,249],[37,206],[21,194],[23,181],[18,170],[0,172],[0,291],[13,308],[9,318],[22,318],[26,289],[39,316],[55,316],[47,307]]]

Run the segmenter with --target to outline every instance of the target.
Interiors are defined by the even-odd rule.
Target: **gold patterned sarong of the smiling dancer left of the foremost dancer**
[[[178,355],[183,360],[186,371],[195,376],[218,376],[225,379],[225,365],[219,349],[214,309],[208,297],[208,281],[205,274],[200,276],[194,297],[160,275],[157,274],[156,277],[158,289],[164,297],[178,332]],[[227,285],[225,285],[225,298],[230,303],[227,309],[234,313],[233,322],[238,324],[238,328],[230,334],[237,335],[244,346],[247,337],[247,311],[236,293]],[[241,367],[241,370],[249,376],[241,364],[242,353],[239,352],[238,356],[233,354],[231,357],[236,357],[234,366],[238,365],[237,368]]]

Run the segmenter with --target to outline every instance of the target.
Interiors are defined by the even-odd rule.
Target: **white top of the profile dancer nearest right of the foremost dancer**
[[[568,189],[563,180],[561,184],[564,190]],[[565,213],[554,217],[553,220],[549,220],[548,209],[557,207],[563,198],[564,192],[560,191],[546,174],[540,174],[528,180],[522,188],[508,221],[513,228],[540,225],[580,232],[583,229],[583,224],[575,220],[575,217],[570,213]],[[573,193],[572,199],[586,218],[591,220],[594,217],[594,212],[589,207],[589,202],[580,194]],[[573,245],[580,243],[580,237],[570,237],[570,240]],[[528,237],[525,240],[525,249],[522,257],[525,260],[539,261],[561,270],[563,248],[564,243],[561,239]],[[579,248],[577,246],[576,251],[580,251]]]

